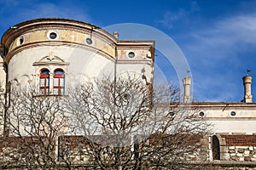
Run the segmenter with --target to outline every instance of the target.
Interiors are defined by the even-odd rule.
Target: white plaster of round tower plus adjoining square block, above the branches
[[[57,56],[69,63],[66,71],[66,84],[72,86],[75,82],[91,82],[94,78],[113,75],[114,74],[114,59],[108,56],[103,56],[95,51],[90,51],[87,48],[75,48],[68,46],[40,46],[28,48],[21,51],[12,57],[9,61],[9,81],[20,82],[25,85],[29,80],[34,84],[38,83],[39,72],[44,66],[35,66],[34,62],[38,62],[45,56]],[[49,65],[46,66],[49,71],[53,72],[55,68],[61,66]],[[148,77],[148,82],[152,75],[152,68],[148,64],[117,64],[117,75],[125,71],[136,71],[142,73],[145,69],[145,76]]]

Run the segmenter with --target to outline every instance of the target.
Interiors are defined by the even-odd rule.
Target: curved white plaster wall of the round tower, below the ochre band
[[[90,81],[91,77],[98,77],[102,72],[110,72],[109,74],[113,72],[113,60],[100,54],[84,48],[45,46],[29,48],[15,54],[9,61],[9,81],[17,80],[22,84],[29,79],[35,81],[36,79],[32,75],[38,77],[39,70],[38,66],[33,65],[33,63],[50,54],[69,63],[67,66],[67,82],[68,79],[79,82]],[[47,67],[51,68],[51,65]],[[55,67],[61,68],[61,65]]]

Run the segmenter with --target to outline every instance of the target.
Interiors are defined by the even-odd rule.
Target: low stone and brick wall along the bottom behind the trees
[[[94,139],[99,138],[94,136]],[[194,153],[188,153],[184,158],[189,163],[199,163],[204,165],[204,169],[237,169],[237,170],[256,170],[256,135],[218,135],[219,147],[220,147],[220,160],[208,161],[207,155],[203,154],[202,146],[207,147],[207,140],[201,139],[200,137],[191,139],[189,144],[199,144],[198,150],[194,150]],[[17,157],[21,154],[20,146],[23,141],[26,144],[38,144],[37,138],[26,137],[23,140],[18,140],[16,137],[0,138],[0,165],[1,161],[17,161]],[[68,161],[81,163],[83,165],[90,165],[92,160],[83,153],[90,152],[87,145],[89,144],[88,139],[81,136],[65,136],[59,137],[58,139],[58,160],[61,162],[61,158],[65,156],[62,153],[66,153],[68,150],[69,156]],[[150,140],[148,142],[150,144]],[[22,147],[21,147],[22,149]],[[206,148],[208,149],[208,148]],[[209,154],[209,152],[207,152]],[[64,156],[64,157],[63,157]],[[22,156],[20,156],[22,157]],[[67,158],[67,157],[65,157]],[[21,160],[22,161],[22,160]],[[2,165],[3,166],[3,165]],[[1,166],[0,166],[1,168]]]

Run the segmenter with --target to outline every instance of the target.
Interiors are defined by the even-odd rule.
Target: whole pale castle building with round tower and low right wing
[[[0,55],[0,93],[5,97],[10,87],[27,85],[35,87],[38,95],[66,94],[77,82],[90,83],[104,74],[119,77],[133,72],[153,83],[154,40],[119,40],[118,32],[110,34],[77,20],[37,19],[12,26],[3,34]],[[253,162],[250,166],[256,167],[252,77],[246,75],[242,80],[241,102],[191,102],[191,78],[184,77],[183,102],[191,102],[198,116],[212,124],[209,160],[225,165],[236,161],[239,166]]]

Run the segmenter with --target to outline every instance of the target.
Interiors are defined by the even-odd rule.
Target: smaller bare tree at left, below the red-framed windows
[[[3,138],[6,166],[56,167],[58,136],[66,133],[63,97],[36,95],[34,88],[13,88],[6,105],[9,137]]]

